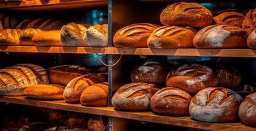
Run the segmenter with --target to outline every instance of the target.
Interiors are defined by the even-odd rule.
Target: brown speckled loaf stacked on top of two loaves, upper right
[[[160,21],[163,25],[203,28],[212,24],[212,13],[198,3],[179,2],[164,9]]]

